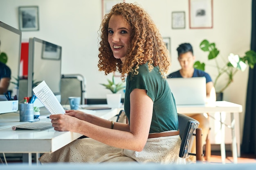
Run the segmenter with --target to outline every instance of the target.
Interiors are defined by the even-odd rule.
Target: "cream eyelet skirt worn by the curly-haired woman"
[[[76,139],[54,153],[45,153],[41,163],[103,163],[103,162],[139,162],[139,163],[176,163],[185,164],[179,157],[180,135],[150,138],[141,152],[115,148],[91,138]]]

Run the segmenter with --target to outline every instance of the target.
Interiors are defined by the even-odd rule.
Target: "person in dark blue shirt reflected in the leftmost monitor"
[[[0,46],[1,46],[1,41],[0,41]],[[2,63],[2,56],[0,51],[0,94],[4,94],[7,92],[7,89],[10,84],[10,79],[11,79],[11,69]]]

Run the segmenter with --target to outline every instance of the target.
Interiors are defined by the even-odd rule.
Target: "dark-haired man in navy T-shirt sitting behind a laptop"
[[[193,67],[195,56],[193,55],[193,48],[191,44],[180,44],[180,46],[177,48],[177,52],[181,69],[169,74],[167,78],[191,78],[204,76],[206,78],[207,102],[216,101],[216,92],[210,75]],[[207,134],[209,133],[209,120],[204,116],[203,113],[191,113],[186,115],[200,122],[199,128],[202,129],[203,134],[202,141],[205,142],[207,139]],[[191,153],[195,153],[195,140],[191,149]],[[191,161],[195,161],[195,157],[189,157],[189,159]]]

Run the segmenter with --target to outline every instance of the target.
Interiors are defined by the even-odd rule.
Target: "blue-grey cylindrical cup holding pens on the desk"
[[[34,107],[33,103],[20,103],[20,122],[34,121]]]

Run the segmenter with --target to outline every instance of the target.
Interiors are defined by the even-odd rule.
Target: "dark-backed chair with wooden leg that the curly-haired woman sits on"
[[[199,122],[180,113],[178,113],[178,119],[180,137],[182,139],[179,157],[188,158],[190,155],[193,155],[196,156],[197,162],[203,161],[202,129],[198,128]],[[190,153],[194,136],[196,140],[196,153]]]

